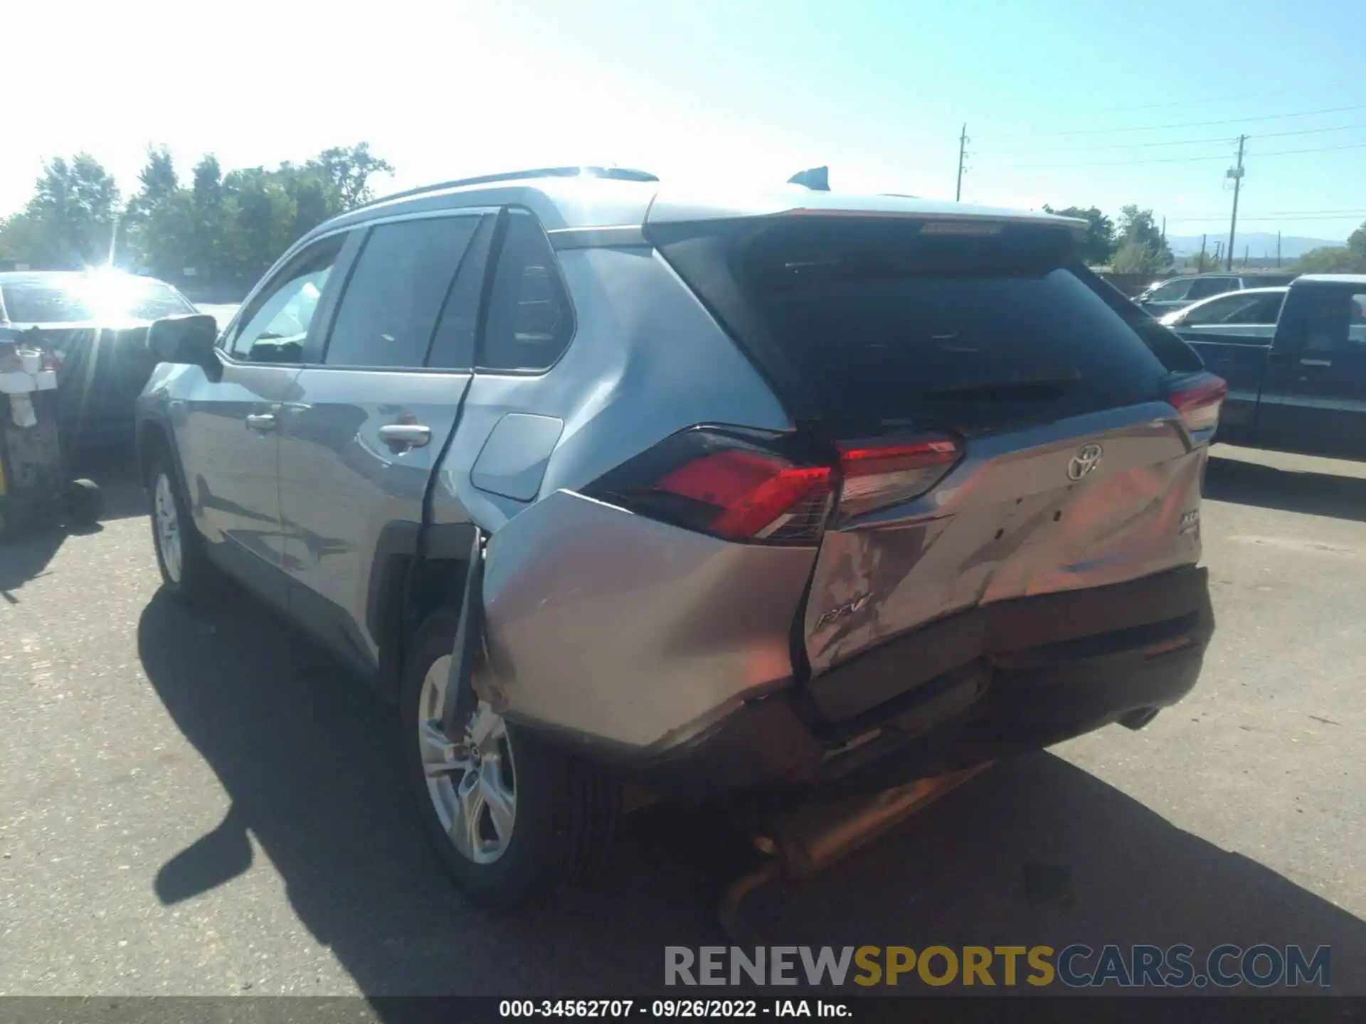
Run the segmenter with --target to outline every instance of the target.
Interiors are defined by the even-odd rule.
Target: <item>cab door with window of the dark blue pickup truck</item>
[[[1366,287],[1302,285],[1281,315],[1258,425],[1277,445],[1366,455]]]

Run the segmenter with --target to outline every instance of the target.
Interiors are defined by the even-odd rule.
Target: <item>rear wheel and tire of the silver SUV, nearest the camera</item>
[[[482,702],[462,735],[447,737],[440,722],[456,625],[454,613],[432,617],[406,658],[404,771],[422,830],[459,889],[484,907],[523,909],[601,867],[620,789]]]

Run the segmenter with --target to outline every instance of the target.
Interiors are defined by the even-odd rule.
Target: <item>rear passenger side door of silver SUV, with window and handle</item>
[[[283,404],[280,505],[291,612],[359,668],[378,657],[372,576],[413,549],[470,382],[489,210],[357,229],[326,337]]]

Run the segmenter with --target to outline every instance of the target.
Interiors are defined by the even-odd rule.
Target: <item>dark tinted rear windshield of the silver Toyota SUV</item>
[[[922,227],[787,217],[656,242],[799,418],[973,431],[1147,401],[1199,367],[1065,232]]]

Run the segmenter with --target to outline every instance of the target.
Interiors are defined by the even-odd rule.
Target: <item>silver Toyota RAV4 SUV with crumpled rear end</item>
[[[231,576],[392,695],[494,905],[598,863],[627,784],[792,800],[1141,728],[1213,629],[1224,385],[1083,229],[622,169],[370,203],[221,333],[153,325],[165,588]]]

